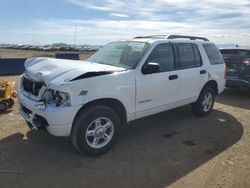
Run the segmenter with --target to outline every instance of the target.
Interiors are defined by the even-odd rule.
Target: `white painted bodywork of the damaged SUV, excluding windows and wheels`
[[[120,101],[125,107],[127,122],[195,102],[203,86],[209,80],[215,80],[221,93],[225,86],[225,65],[211,65],[200,41],[178,40],[198,45],[203,60],[201,67],[185,70],[175,70],[158,74],[143,75],[142,66],[152,49],[166,42],[176,40],[135,39],[148,42],[151,46],[144,54],[135,69],[102,65],[88,61],[73,61],[53,58],[32,58],[26,61],[26,71],[23,77],[34,82],[44,82],[38,96],[26,92],[20,86],[18,96],[21,103],[22,116],[36,128],[33,122],[35,115],[48,121],[47,130],[55,136],[69,136],[77,112],[85,104],[103,98]],[[203,42],[204,43],[204,42]],[[200,70],[206,69],[207,74],[201,75]],[[113,73],[71,81],[89,72],[111,71]],[[179,79],[169,81],[168,76],[178,74]],[[22,81],[21,81],[22,82]],[[44,92],[53,89],[68,93],[69,106],[46,104],[45,109],[38,109]],[[84,94],[81,94],[85,92]],[[25,113],[22,107],[31,112]]]

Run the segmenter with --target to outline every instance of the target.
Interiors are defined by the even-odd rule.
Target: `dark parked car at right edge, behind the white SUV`
[[[226,87],[250,88],[250,49],[220,49],[226,63]]]

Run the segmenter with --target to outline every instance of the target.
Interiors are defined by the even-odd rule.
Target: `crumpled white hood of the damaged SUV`
[[[102,65],[88,61],[75,61],[54,58],[31,58],[25,61],[26,74],[33,80],[52,81],[63,84],[89,72],[123,71],[124,68]]]

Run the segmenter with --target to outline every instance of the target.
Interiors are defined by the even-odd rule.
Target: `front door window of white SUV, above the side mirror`
[[[147,59],[147,63],[154,62],[160,65],[160,72],[174,70],[174,51],[172,44],[156,46]]]

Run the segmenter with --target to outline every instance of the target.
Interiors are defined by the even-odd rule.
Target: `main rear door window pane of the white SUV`
[[[179,43],[176,44],[176,48],[181,69],[187,69],[196,66],[192,44]]]

